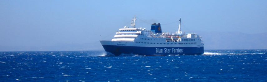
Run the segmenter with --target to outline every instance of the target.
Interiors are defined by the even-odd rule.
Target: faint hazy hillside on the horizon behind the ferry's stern
[[[204,40],[204,49],[267,49],[267,32],[246,34],[240,32],[198,32]]]

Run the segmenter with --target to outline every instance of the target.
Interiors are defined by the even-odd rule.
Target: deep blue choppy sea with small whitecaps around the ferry
[[[267,82],[267,50],[107,56],[104,51],[0,52],[1,82]]]

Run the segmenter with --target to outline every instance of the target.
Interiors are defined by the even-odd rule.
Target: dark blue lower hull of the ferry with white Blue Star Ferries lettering
[[[200,55],[204,53],[204,47],[136,47],[136,46],[117,46],[103,45],[106,52],[116,56],[120,54],[138,55]]]

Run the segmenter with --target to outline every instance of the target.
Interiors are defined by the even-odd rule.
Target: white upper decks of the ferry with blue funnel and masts
[[[196,33],[182,33],[180,31],[181,19],[179,20],[179,29],[178,32],[162,32],[160,24],[152,24],[150,30],[146,30],[146,28],[135,28],[135,18],[133,19],[133,23],[131,24],[132,28],[125,26],[124,28],[119,28],[119,31],[114,35],[114,39],[112,41],[137,41],[142,40],[143,38],[150,39],[164,39],[166,42],[181,42],[186,40],[195,40],[200,39]]]

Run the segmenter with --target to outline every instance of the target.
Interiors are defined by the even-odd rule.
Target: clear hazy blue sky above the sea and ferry
[[[163,32],[176,32],[181,18],[183,32],[267,34],[266,4],[266,0],[1,0],[0,51],[104,50],[99,40],[111,40],[119,28],[130,26],[134,15],[137,28],[160,23]],[[203,35],[204,42],[214,37]]]

